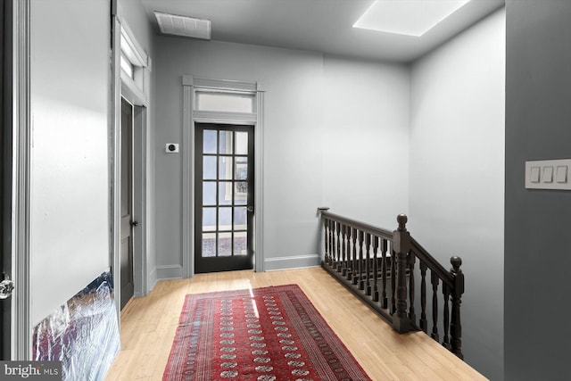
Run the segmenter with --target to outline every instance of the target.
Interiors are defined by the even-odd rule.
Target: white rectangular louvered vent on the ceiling
[[[200,39],[211,39],[211,21],[175,14],[154,12],[161,33]]]

